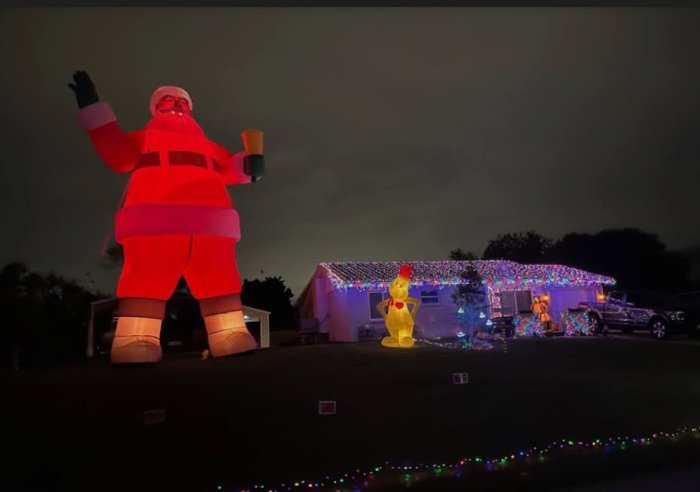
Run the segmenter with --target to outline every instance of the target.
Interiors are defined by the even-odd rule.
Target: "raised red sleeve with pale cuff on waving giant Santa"
[[[142,132],[126,133],[117,125],[117,118],[106,102],[85,106],[77,115],[97,155],[112,170],[125,173],[133,170],[141,155]]]

